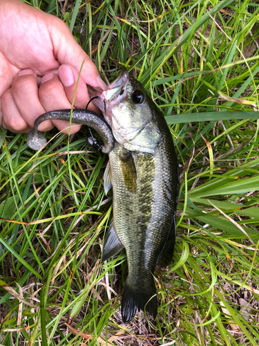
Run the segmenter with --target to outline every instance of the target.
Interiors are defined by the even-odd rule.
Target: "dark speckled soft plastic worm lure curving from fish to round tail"
[[[70,121],[71,109],[60,109],[58,111],[48,111],[42,114],[35,120],[34,129],[27,135],[28,147],[34,150],[39,150],[43,147],[47,140],[41,132],[38,132],[38,127],[41,122],[46,120],[66,120]],[[107,122],[99,116],[99,114],[88,111],[86,109],[73,109],[71,121],[78,125],[87,125],[97,131],[97,134],[102,138],[104,145],[102,146],[102,152],[108,154],[111,152],[115,145],[115,139],[111,131],[111,127]]]

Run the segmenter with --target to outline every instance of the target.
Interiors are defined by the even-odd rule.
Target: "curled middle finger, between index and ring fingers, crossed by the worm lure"
[[[56,109],[71,109],[71,104],[66,97],[64,87],[55,73],[47,73],[41,80],[39,86],[39,100],[46,111]],[[69,122],[64,120],[52,120],[52,123],[65,134],[69,133]],[[75,134],[81,128],[80,125],[72,124],[70,134]]]

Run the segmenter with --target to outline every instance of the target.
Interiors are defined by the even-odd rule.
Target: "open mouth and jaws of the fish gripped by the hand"
[[[90,98],[95,98],[93,103],[101,109],[103,113],[106,111],[106,106],[115,101],[119,95],[124,95],[125,86],[129,80],[128,71],[125,68],[122,68],[118,77],[108,85],[106,90],[102,90],[99,87],[93,87],[87,85],[88,94]]]

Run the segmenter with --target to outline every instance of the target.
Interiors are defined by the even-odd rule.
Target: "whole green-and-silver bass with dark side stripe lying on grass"
[[[105,192],[113,187],[113,219],[102,261],[125,248],[123,322],[137,310],[155,318],[154,269],[169,265],[175,247],[179,173],[171,132],[142,84],[126,70],[105,91],[88,86],[88,93],[115,138],[104,172]]]

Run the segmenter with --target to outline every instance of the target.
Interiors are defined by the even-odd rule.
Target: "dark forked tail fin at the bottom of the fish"
[[[152,279],[153,281],[153,279]],[[131,322],[135,316],[136,310],[146,311],[151,313],[153,318],[157,316],[157,295],[155,284],[152,282],[148,291],[142,288],[132,289],[126,280],[122,295],[122,320],[124,323]]]

